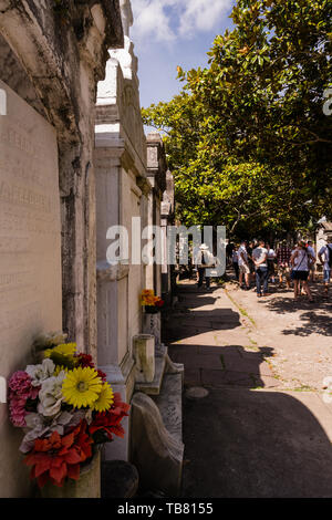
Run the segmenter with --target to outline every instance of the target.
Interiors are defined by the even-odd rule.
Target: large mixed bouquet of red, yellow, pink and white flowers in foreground
[[[97,445],[124,436],[121,425],[129,406],[113,394],[92,357],[76,353],[62,334],[38,343],[40,363],[9,381],[10,419],[25,435],[20,446],[31,479],[39,487],[77,480]]]

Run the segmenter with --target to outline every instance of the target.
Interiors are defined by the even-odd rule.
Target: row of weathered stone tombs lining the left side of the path
[[[103,450],[105,475],[131,461],[141,490],[176,496],[183,366],[160,341],[160,313],[139,301],[152,289],[172,302],[173,273],[132,261],[146,226],[167,236],[174,180],[160,135],[144,135],[131,3],[72,2],[65,21],[46,3],[2,3],[0,375],[29,363],[40,334],[66,332],[131,403],[125,438]],[[114,226],[128,232],[129,258],[110,263]],[[20,440],[0,404],[1,497],[33,493]],[[100,483],[87,488],[100,496]]]

